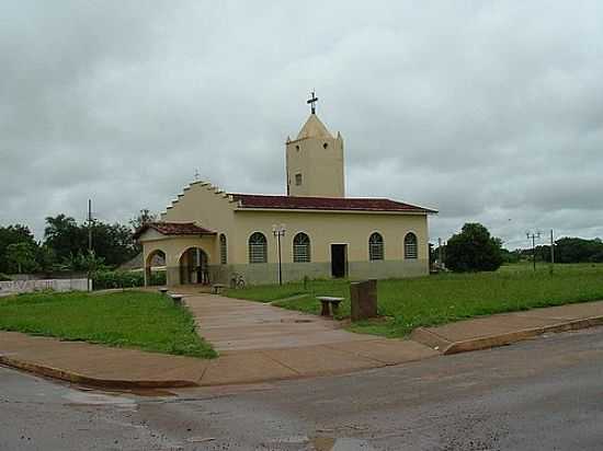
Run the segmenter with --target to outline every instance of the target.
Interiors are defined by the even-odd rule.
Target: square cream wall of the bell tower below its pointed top
[[[323,148],[325,143],[327,149]],[[295,184],[297,173],[302,173],[303,176],[300,186]],[[341,136],[304,138],[287,142],[286,176],[291,196],[344,197]]]

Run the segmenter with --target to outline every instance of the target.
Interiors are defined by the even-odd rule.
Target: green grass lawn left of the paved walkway
[[[42,292],[0,298],[0,329],[213,358],[193,316],[159,293]]]

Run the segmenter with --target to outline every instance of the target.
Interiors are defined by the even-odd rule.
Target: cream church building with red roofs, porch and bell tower
[[[285,146],[286,195],[185,186],[160,221],[136,233],[146,281],[157,256],[167,284],[273,284],[309,278],[429,274],[428,216],[386,198],[345,197],[343,138],[311,114]]]

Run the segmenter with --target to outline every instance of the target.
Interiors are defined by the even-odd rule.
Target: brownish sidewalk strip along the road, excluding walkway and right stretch
[[[73,383],[114,389],[226,385],[341,374],[437,355],[410,340],[376,338],[191,357],[0,332],[0,363]]]

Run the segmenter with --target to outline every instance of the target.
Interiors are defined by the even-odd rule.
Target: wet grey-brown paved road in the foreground
[[[178,395],[114,397],[0,368],[0,450],[601,450],[603,328]]]

